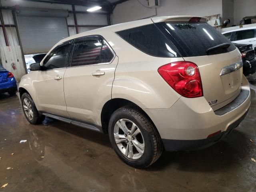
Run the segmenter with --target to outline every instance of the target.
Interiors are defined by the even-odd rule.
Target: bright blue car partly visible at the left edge
[[[8,92],[9,95],[17,93],[17,84],[13,74],[0,66],[0,93]]]

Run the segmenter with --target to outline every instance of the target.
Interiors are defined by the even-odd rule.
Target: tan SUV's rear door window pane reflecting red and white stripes
[[[74,47],[71,66],[98,64],[101,48],[102,44],[98,40],[77,42]]]

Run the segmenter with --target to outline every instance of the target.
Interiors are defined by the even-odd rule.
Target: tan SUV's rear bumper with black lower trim
[[[234,100],[235,108],[224,106],[225,110],[210,107],[204,97],[181,97],[169,109],[144,109],[154,122],[166,150],[191,150],[205,148],[220,140],[244,119],[250,108],[250,87],[244,79],[242,101]],[[231,102],[232,103],[232,102]],[[223,113],[224,111],[224,113]],[[218,113],[219,112],[219,113]],[[208,138],[209,135],[220,134]]]

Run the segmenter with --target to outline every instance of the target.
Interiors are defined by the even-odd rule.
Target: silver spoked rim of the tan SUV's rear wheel
[[[145,142],[138,126],[128,119],[120,119],[114,126],[114,138],[126,158],[134,160],[144,154]]]

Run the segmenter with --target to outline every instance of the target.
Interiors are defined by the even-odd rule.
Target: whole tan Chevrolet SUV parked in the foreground
[[[243,120],[250,88],[239,50],[204,18],[156,17],[58,42],[23,76],[31,124],[49,116],[108,133],[134,167],[162,150],[205,148]]]

